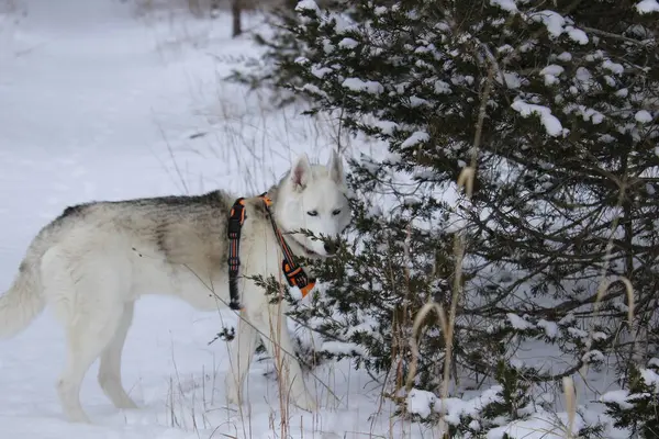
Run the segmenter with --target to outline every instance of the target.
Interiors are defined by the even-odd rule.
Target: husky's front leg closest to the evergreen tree
[[[317,405],[304,385],[302,369],[295,358],[281,306],[267,305],[267,313],[260,313],[255,317],[253,322],[261,335],[268,354],[275,361],[282,403],[288,405],[290,401],[304,410],[315,410]]]

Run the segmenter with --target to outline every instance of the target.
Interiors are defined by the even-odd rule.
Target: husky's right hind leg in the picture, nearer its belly
[[[114,337],[101,353],[99,384],[116,408],[137,408],[121,383],[121,354],[131,324],[133,323],[133,302],[124,305]]]

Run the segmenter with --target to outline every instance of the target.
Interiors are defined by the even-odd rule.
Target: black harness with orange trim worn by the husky
[[[315,279],[311,279],[306,275],[302,267],[300,267],[295,262],[295,257],[291,251],[291,248],[283,239],[283,235],[277,227],[277,223],[275,222],[275,217],[272,216],[272,212],[270,211],[270,206],[272,205],[272,201],[264,193],[259,195],[259,198],[264,201],[264,205],[266,207],[266,212],[270,217],[270,223],[272,224],[272,230],[275,232],[275,236],[279,241],[279,246],[281,247],[281,252],[283,254],[283,260],[281,261],[281,271],[286,277],[286,280],[290,286],[298,286],[302,292],[302,297],[305,297],[313,286],[315,285]],[[228,306],[232,309],[242,309],[241,306],[241,297],[238,294],[238,269],[241,267],[241,229],[243,228],[243,224],[245,223],[245,199],[239,198],[235,201],[233,207],[231,209],[231,214],[228,216],[228,292],[231,301]]]

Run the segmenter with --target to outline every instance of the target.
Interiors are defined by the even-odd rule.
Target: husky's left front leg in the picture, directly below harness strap
[[[226,397],[231,404],[239,405],[243,402],[243,383],[247,372],[249,372],[249,364],[254,358],[254,351],[256,349],[256,342],[258,340],[258,334],[254,326],[244,318],[245,313],[241,312],[238,318],[238,330],[236,339],[230,347],[230,371],[226,373],[224,381]]]

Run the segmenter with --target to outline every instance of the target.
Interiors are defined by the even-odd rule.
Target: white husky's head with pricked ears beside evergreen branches
[[[304,247],[304,256],[327,258],[336,254],[334,241],[350,222],[346,193],[343,162],[334,150],[324,166],[311,165],[306,154],[301,155],[283,179],[277,216],[288,236]],[[299,230],[309,230],[316,238]]]

